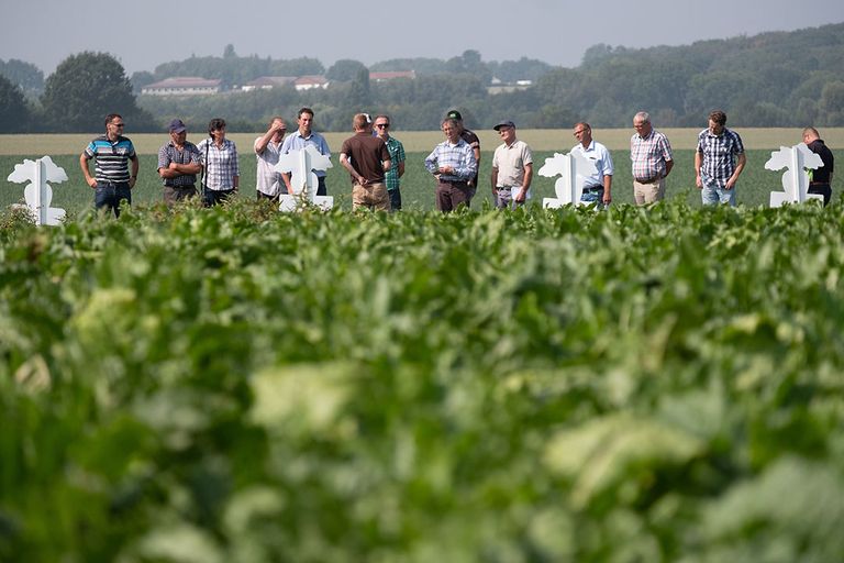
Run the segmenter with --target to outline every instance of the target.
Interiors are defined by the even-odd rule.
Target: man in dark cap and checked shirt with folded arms
[[[187,141],[185,123],[175,119],[169,130],[170,141],[158,150],[158,176],[164,181],[164,202],[174,206],[197,195],[197,174],[202,165],[199,148]]]

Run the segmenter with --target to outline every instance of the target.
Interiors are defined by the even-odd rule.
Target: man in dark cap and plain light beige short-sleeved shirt
[[[501,121],[495,128],[503,143],[492,155],[492,197],[496,208],[515,209],[531,197],[533,155],[524,141],[515,139],[515,123]]]

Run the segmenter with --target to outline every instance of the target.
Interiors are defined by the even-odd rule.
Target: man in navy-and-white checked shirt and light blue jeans
[[[695,181],[704,206],[735,207],[735,183],[747,163],[742,137],[725,125],[726,113],[715,110],[709,114],[709,126],[698,134]]]

